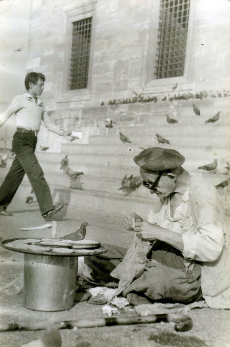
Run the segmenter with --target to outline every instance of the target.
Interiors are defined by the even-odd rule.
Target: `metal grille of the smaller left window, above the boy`
[[[92,17],[72,23],[70,90],[87,88]]]

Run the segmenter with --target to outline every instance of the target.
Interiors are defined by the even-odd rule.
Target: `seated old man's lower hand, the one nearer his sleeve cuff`
[[[154,241],[159,240],[162,234],[168,231],[168,229],[146,221],[136,221],[134,231],[136,231],[136,235],[142,240]]]

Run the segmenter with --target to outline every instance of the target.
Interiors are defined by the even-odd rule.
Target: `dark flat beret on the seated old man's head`
[[[176,150],[161,147],[150,147],[141,151],[133,158],[134,162],[143,169],[164,171],[181,166],[185,158]]]

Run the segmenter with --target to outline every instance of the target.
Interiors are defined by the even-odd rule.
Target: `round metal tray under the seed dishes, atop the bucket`
[[[107,252],[107,249],[104,248],[103,246],[99,246],[98,248],[94,248],[94,249],[74,249],[74,253],[57,253],[57,252],[53,252],[53,251],[51,251],[51,252],[45,252],[45,251],[38,252],[38,251],[30,251],[29,249],[22,249],[22,248],[7,246],[7,244],[9,242],[12,242],[15,240],[27,240],[28,238],[29,237],[19,237],[19,238],[2,240],[0,243],[0,246],[4,247],[6,249],[10,249],[10,251],[19,252],[19,253],[29,253],[29,254],[39,254],[39,255],[55,255],[55,256],[59,255],[59,256],[68,256],[68,257],[99,255],[99,254],[103,254],[103,253]],[[41,238],[38,238],[38,237],[33,237],[33,238],[41,240]],[[54,248],[56,248],[56,247],[54,247]],[[68,249],[69,249],[69,247],[68,247]],[[85,251],[85,252],[83,252],[83,251]]]

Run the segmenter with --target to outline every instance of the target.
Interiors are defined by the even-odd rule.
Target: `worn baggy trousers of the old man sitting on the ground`
[[[92,269],[92,279],[98,283],[117,282],[110,276],[126,254],[123,247],[103,245],[108,252],[99,256],[85,257],[85,263]],[[148,254],[159,264],[150,262],[138,278],[123,291],[144,295],[153,301],[189,303],[202,298],[201,265],[195,263],[192,273],[185,272],[183,255],[178,249],[164,243],[156,245]]]

